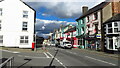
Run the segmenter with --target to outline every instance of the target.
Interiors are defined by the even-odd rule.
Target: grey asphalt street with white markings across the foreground
[[[47,47],[46,49],[46,52],[40,53],[0,51],[2,51],[2,58],[14,56],[14,67],[16,68],[47,68],[48,66],[53,68],[99,68],[101,66],[102,68],[118,68],[118,59],[107,55],[86,52],[80,49],[62,49],[56,47]],[[55,54],[56,56],[53,59]]]

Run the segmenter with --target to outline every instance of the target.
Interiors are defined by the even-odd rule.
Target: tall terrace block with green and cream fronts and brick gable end
[[[102,2],[89,9],[77,21],[77,37],[83,48],[105,50],[103,22],[120,13],[120,2]]]

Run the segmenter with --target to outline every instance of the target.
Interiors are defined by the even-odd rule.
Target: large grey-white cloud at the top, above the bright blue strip
[[[58,0],[57,0],[58,1]],[[82,6],[89,6],[89,8],[97,5],[98,3],[104,0],[92,0],[89,1],[81,1],[81,2],[26,2],[28,5],[33,7],[35,10],[42,10],[41,8],[45,8],[42,15],[48,14],[51,16],[56,16],[59,18],[77,18],[82,13]]]

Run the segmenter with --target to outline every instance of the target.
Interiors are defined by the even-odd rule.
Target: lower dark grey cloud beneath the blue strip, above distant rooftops
[[[38,32],[38,36],[47,37],[54,29],[60,28],[60,25],[68,24],[76,25],[76,22],[36,19],[35,30]],[[45,27],[44,30],[42,29],[43,26]]]

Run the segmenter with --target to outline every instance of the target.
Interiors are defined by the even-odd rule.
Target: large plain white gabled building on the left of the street
[[[0,46],[31,48],[35,11],[21,0],[0,1]]]

